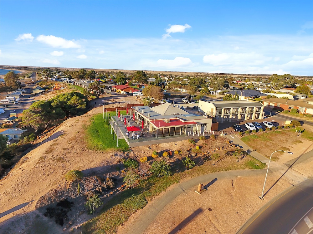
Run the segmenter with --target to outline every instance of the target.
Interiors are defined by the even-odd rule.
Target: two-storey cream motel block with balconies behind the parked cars
[[[252,100],[202,101],[198,110],[204,115],[216,118],[217,122],[233,122],[249,119],[263,119],[263,105]]]

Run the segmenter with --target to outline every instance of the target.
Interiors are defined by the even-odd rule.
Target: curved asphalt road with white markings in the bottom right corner
[[[313,232],[313,178],[287,189],[252,216],[237,234]]]

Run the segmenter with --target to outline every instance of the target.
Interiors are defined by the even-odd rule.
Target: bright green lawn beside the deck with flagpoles
[[[115,115],[115,112],[110,113],[114,113]],[[121,113],[123,113],[123,111],[121,111]],[[94,115],[91,119],[93,121],[87,127],[85,137],[87,145],[90,149],[95,150],[121,149],[123,151],[129,149],[129,146],[124,139],[118,139],[119,146],[118,147],[116,146],[116,136],[115,140],[113,140],[113,134],[111,134],[111,129],[109,129],[108,125],[106,125],[102,113]]]

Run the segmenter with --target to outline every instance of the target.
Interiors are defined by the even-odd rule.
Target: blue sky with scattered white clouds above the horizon
[[[6,1],[0,64],[313,75],[313,1]]]

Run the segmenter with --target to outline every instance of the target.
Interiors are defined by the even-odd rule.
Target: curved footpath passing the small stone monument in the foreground
[[[252,175],[264,175],[265,169],[262,170],[244,170],[244,171],[224,171],[216,172],[211,174],[201,175],[195,178],[188,179],[178,183],[171,189],[167,189],[162,193],[160,199],[155,199],[152,201],[151,205],[143,208],[136,220],[133,220],[131,223],[131,228],[126,233],[127,234],[141,234],[144,233],[146,228],[150,223],[156,218],[157,214],[170,202],[172,202],[178,195],[185,193],[188,189],[197,188],[199,183],[206,184],[208,190],[210,189],[209,185],[215,183],[216,181],[223,178],[234,178],[236,176],[252,176]],[[206,188],[206,186],[204,186]],[[206,192],[204,192],[206,193]]]

